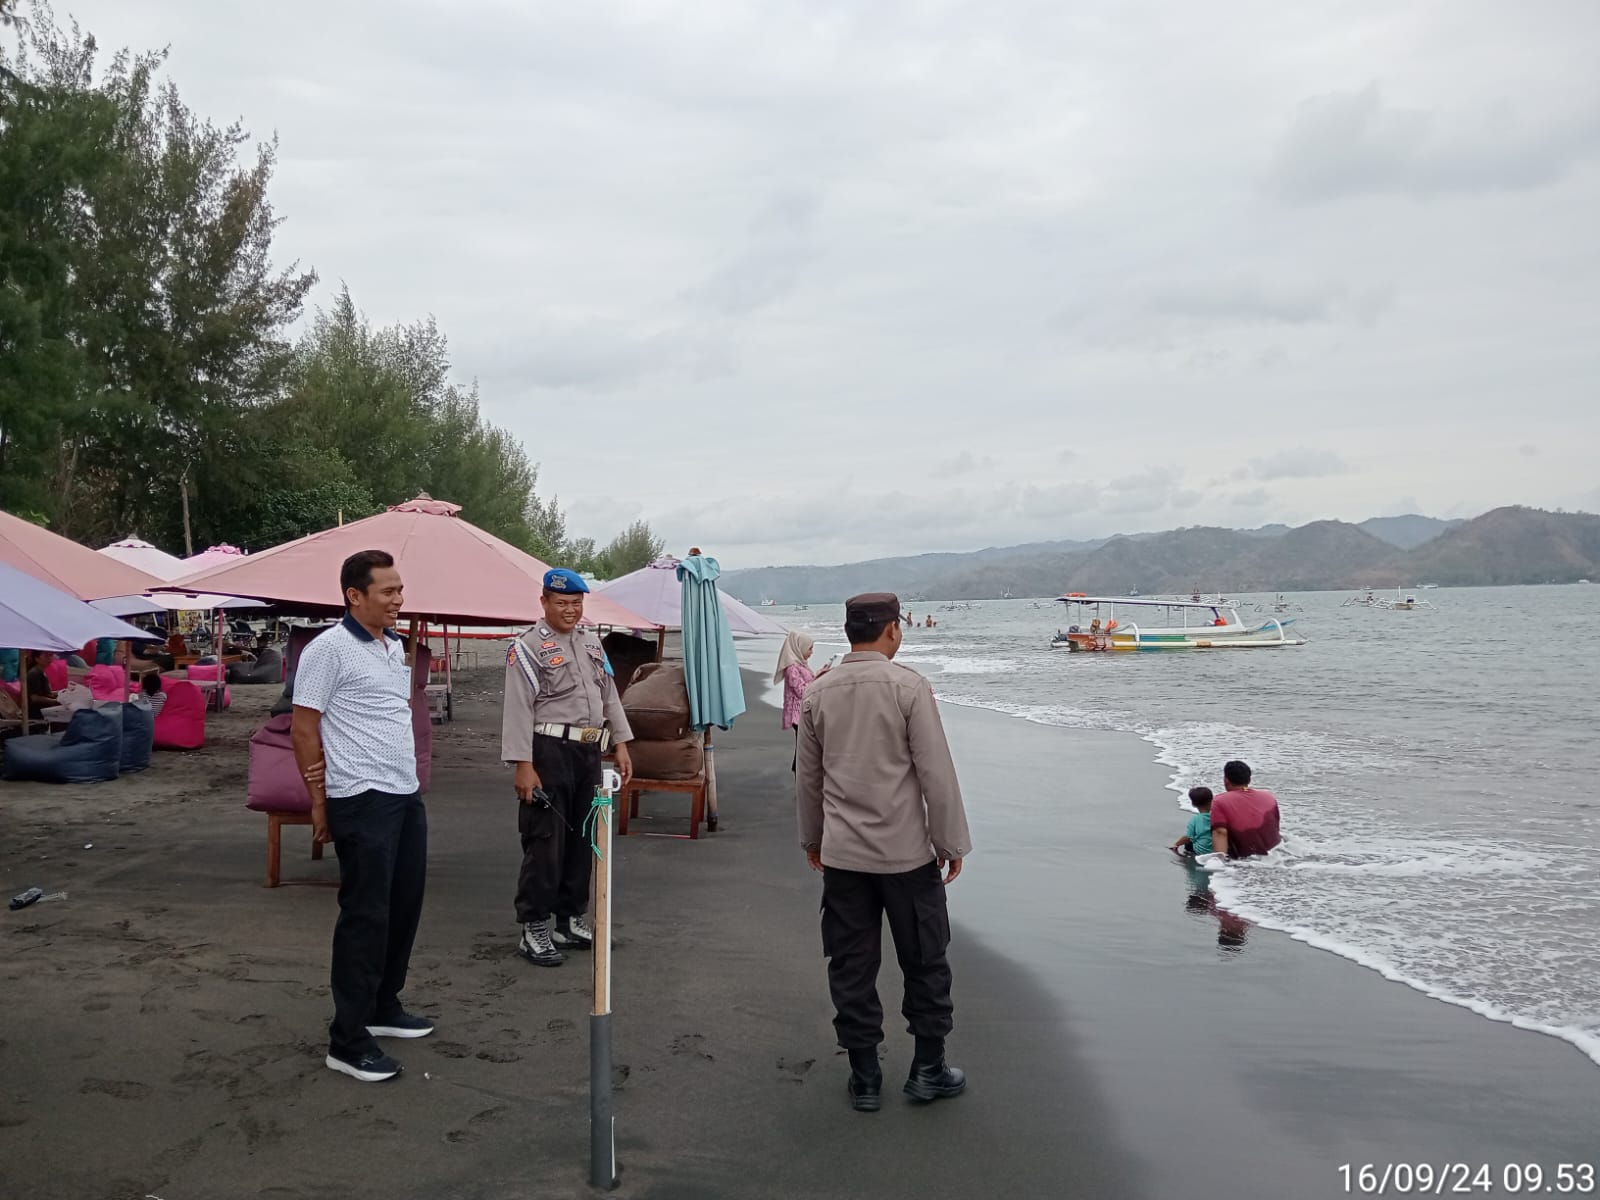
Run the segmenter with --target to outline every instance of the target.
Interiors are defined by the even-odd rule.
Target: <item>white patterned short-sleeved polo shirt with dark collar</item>
[[[418,790],[411,667],[392,629],[376,638],[346,614],[312,638],[294,670],[294,707],[322,714],[330,800]]]

